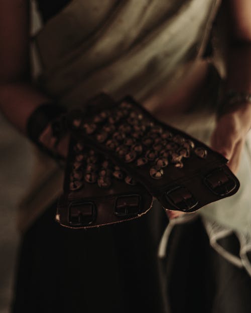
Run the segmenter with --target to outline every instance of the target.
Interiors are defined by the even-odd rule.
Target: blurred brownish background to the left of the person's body
[[[40,26],[35,2],[31,1],[31,35]],[[38,74],[31,47],[34,75]],[[35,64],[35,65],[34,65]],[[0,112],[0,313],[9,313],[14,288],[20,233],[17,209],[27,192],[33,168],[32,146]]]

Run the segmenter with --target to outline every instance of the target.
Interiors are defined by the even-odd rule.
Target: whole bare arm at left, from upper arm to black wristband
[[[29,3],[0,1],[0,110],[24,134],[31,113],[50,100],[30,83]]]

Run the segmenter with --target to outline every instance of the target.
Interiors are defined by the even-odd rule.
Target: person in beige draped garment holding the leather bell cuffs
[[[164,119],[179,113],[186,119],[186,113],[198,102],[202,87],[209,89],[210,66],[203,56],[220,6],[218,0],[64,0],[53,4],[38,1],[38,5],[45,22],[36,36],[43,71],[34,83],[29,65],[29,2],[13,0],[0,4],[1,110],[24,135],[31,137],[27,125],[34,112],[44,104],[54,106],[55,101],[70,108],[83,105],[100,90],[116,99],[129,93],[156,116]],[[228,21],[224,94],[232,90],[238,95],[250,95],[251,4],[249,0],[229,0],[222,1],[221,6],[223,16],[225,13],[221,20],[226,24]],[[215,101],[215,90],[213,95],[211,102]],[[221,103],[229,104],[233,98],[223,99]],[[211,137],[212,148],[229,159],[228,165],[234,172],[251,126],[249,102],[248,97],[240,96],[234,106],[224,106]],[[38,136],[37,140],[51,149],[50,140],[43,138]],[[66,146],[65,137],[57,151],[66,155]],[[156,207],[140,220],[98,230],[62,229],[54,222],[54,201],[61,192],[62,171],[45,156],[39,160],[40,172],[32,196],[23,204],[19,219],[24,234],[13,312],[169,311],[162,285],[169,278],[176,281],[171,307],[182,311],[184,307],[177,305],[182,302],[177,299],[182,277],[175,273],[184,267],[182,262],[177,262],[179,268],[170,265],[184,257],[175,255],[180,251],[180,243],[169,256],[174,261],[167,260],[168,277],[166,271],[160,272],[156,257],[167,223],[163,212]],[[198,238],[201,224],[197,228],[199,232],[191,238]],[[203,244],[208,245],[206,239]],[[193,265],[203,260],[191,251],[197,260],[191,261]],[[191,289],[191,277],[184,277],[187,289]],[[250,283],[242,287],[250,290]],[[192,291],[198,290],[195,283],[193,288]],[[184,285],[181,288],[187,289]],[[203,291],[202,299],[209,294],[208,290]],[[190,296],[191,293],[183,304],[191,310],[194,302]],[[250,305],[246,301],[245,298],[243,312]],[[198,303],[199,310],[199,305],[207,302]],[[221,311],[230,312],[228,308],[225,304]],[[216,312],[218,307],[210,309]]]

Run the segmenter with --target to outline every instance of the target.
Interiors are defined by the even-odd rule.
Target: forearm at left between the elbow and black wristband
[[[0,84],[0,109],[23,134],[26,134],[27,121],[32,112],[50,101],[50,98],[29,82]]]

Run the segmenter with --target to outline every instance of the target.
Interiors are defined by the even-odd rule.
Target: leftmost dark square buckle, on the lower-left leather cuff
[[[69,224],[88,226],[95,221],[96,209],[92,202],[71,202],[69,205]]]

